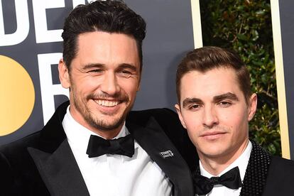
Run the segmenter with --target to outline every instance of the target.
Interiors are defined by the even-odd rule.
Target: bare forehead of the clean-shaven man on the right
[[[187,97],[212,99],[227,92],[242,94],[236,72],[231,68],[215,68],[207,72],[191,71],[180,81],[181,100]]]

